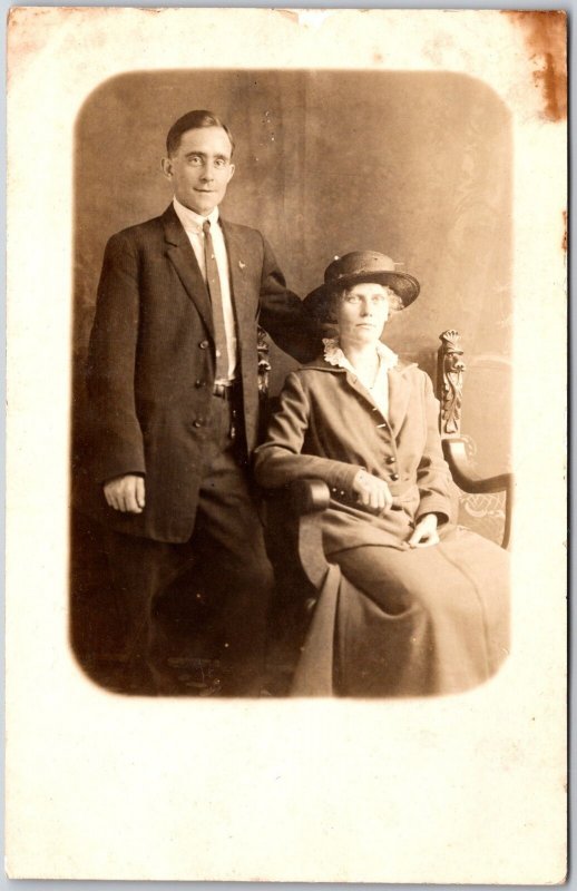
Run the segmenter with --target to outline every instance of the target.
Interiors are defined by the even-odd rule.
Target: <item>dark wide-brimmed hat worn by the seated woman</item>
[[[401,298],[403,309],[419,296],[420,284],[412,275],[397,272],[395,264],[385,254],[376,251],[353,251],[335,257],[324,271],[324,284],[315,287],[304,298],[304,306],[317,319],[324,319],[331,310],[331,297],[335,291],[375,282],[387,285]]]

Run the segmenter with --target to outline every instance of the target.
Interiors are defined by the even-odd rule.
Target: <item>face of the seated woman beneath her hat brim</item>
[[[371,282],[350,287],[336,305],[341,343],[355,346],[376,343],[388,319],[388,288]]]

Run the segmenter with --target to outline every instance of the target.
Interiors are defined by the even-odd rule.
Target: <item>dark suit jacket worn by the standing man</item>
[[[261,233],[222,226],[251,453],[258,430],[257,324],[300,361],[317,352],[319,337]],[[214,330],[208,291],[172,205],[108,242],[87,371],[94,473],[106,521],[159,541],[188,540],[207,470]],[[125,473],[145,474],[140,515],[114,511],[104,500],[102,482]]]

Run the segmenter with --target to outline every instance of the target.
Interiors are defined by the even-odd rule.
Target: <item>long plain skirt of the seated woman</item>
[[[332,648],[338,695],[459,693],[507,657],[509,561],[497,545],[450,527],[432,547],[358,546],[330,559],[341,578],[321,594],[303,664],[319,673]],[[327,692],[311,678],[301,666],[293,693]]]

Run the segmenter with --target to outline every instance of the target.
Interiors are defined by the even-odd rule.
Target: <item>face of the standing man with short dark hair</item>
[[[221,204],[234,174],[232,146],[222,127],[202,127],[183,134],[177,151],[163,159],[163,172],[175,197],[201,216]]]

